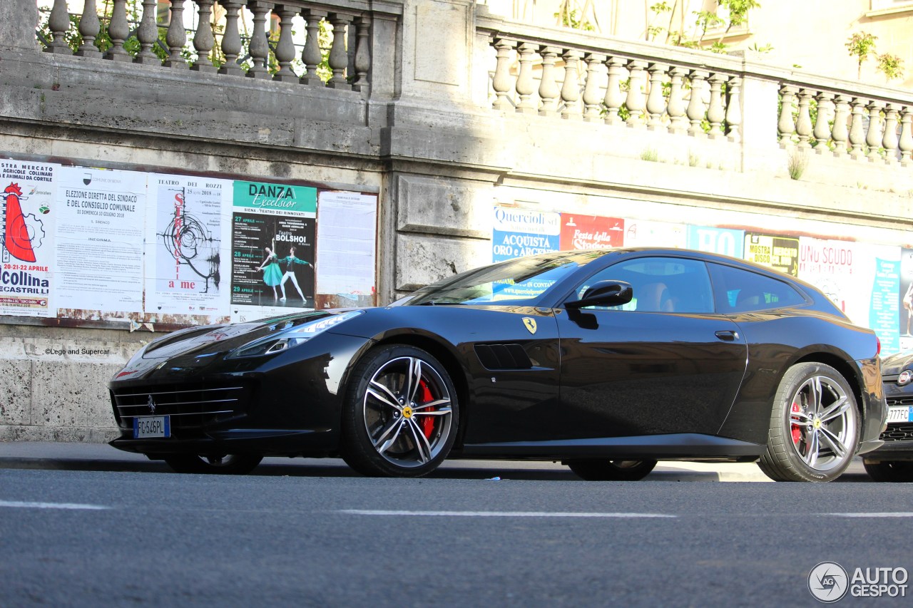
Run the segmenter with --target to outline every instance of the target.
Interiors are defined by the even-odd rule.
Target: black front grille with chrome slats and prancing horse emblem
[[[112,401],[122,428],[132,428],[133,418],[171,416],[176,435],[200,430],[207,424],[243,414],[249,388],[241,383],[225,385],[173,385],[116,389]]]

